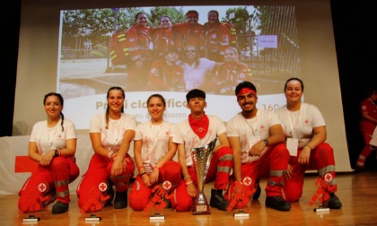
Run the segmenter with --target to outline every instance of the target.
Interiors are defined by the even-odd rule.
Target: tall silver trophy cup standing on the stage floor
[[[216,141],[217,138],[205,146],[191,149],[193,166],[197,174],[197,189],[199,190],[199,194],[194,203],[194,215],[211,213],[204,194],[204,186],[206,184],[206,174],[209,170],[209,164],[214,153]]]

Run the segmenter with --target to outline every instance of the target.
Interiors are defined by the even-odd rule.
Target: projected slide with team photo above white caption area
[[[225,121],[239,111],[234,89],[241,81],[256,85],[260,108],[274,110],[285,104],[286,79],[300,77],[291,5],[103,8],[60,15],[57,89],[70,118],[77,108],[88,116],[103,111],[103,95],[120,86],[127,93],[125,108],[140,121],[147,119],[145,101],[155,92],[169,100],[170,121],[188,117],[185,95],[196,88],[211,100],[207,114]],[[86,128],[86,121],[75,125]]]

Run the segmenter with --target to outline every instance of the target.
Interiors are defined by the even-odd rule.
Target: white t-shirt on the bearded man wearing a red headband
[[[260,156],[249,156],[251,146],[266,139],[269,136],[269,128],[276,124],[280,124],[280,122],[274,112],[260,109],[258,109],[256,117],[251,119],[246,119],[240,112],[229,120],[226,124],[226,135],[239,137],[242,163],[258,161],[267,151],[267,147],[265,147]]]

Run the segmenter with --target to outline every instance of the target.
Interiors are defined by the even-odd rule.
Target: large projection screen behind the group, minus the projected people
[[[30,135],[32,125],[45,118],[42,100],[49,91],[63,95],[63,112],[74,121],[79,135],[88,135],[91,117],[105,110],[111,86],[125,89],[125,111],[138,122],[148,120],[145,101],[157,92],[167,100],[165,120],[178,123],[187,118],[188,90],[133,90],[133,84],[127,83],[128,65],[115,64],[111,58],[110,39],[135,25],[136,13],[147,13],[149,25],[157,28],[162,15],[169,15],[174,26],[185,22],[189,10],[197,10],[201,24],[207,22],[210,10],[219,13],[220,22],[232,23],[237,31],[233,47],[250,68],[251,76],[244,80],[257,85],[259,109],[283,106],[286,79],[301,78],[304,101],[316,105],[325,117],[337,170],[351,170],[329,0],[180,1],[174,5],[22,1],[13,135]],[[234,95],[222,93],[217,82],[214,74],[206,74],[206,85],[199,88],[207,94],[206,114],[226,123],[240,108]]]

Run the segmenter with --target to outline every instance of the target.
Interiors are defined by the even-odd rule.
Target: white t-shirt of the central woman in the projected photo
[[[207,58],[200,58],[199,65],[189,65],[183,63],[180,65],[183,68],[183,80],[186,84],[186,90],[190,91],[196,89],[205,83],[206,73],[211,72],[215,67],[215,61]]]

